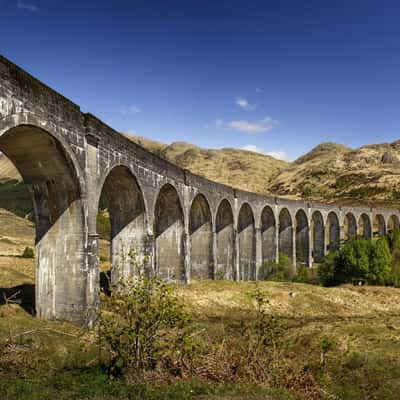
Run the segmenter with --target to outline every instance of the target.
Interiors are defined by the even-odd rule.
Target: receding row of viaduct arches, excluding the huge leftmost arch
[[[204,195],[198,194],[190,207],[186,232],[181,199],[177,190],[166,184],[159,191],[155,202],[151,249],[146,243],[148,229],[143,194],[135,177],[126,167],[116,167],[108,175],[103,186],[103,198],[111,219],[114,279],[120,274],[134,274],[132,268],[135,263],[131,259],[133,249],[138,264],[143,262],[146,252],[153,254],[156,272],[167,280],[182,281],[188,277],[185,271],[185,258],[188,254],[192,279],[257,278],[258,233],[254,213],[248,203],[241,206],[235,225],[230,202],[222,200],[216,211],[213,229],[208,201]],[[320,211],[315,211],[309,221],[304,210],[298,210],[292,218],[289,210],[283,208],[278,218],[276,221],[269,206],[261,213],[261,262],[276,260],[279,254],[284,253],[295,259],[297,265],[310,265],[312,262],[320,262],[328,251],[340,246],[340,221],[335,212],[330,212],[324,219]],[[361,236],[370,239],[398,225],[396,216],[392,216],[386,226],[380,214],[371,223],[367,214],[361,214],[357,221],[349,212],[344,217],[342,238],[348,240]]]

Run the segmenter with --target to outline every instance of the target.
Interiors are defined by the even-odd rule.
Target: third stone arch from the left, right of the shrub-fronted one
[[[184,215],[177,190],[169,183],[158,193],[154,208],[155,269],[169,281],[185,279]]]

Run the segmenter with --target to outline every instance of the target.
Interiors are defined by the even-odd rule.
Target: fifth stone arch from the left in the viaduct
[[[234,272],[234,222],[231,204],[224,199],[218,206],[215,220],[217,260],[216,279],[233,279]]]

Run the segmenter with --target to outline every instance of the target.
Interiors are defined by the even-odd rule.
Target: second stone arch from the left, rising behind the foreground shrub
[[[111,281],[135,276],[147,267],[147,219],[143,192],[128,167],[112,168],[103,183],[100,202],[111,222]]]

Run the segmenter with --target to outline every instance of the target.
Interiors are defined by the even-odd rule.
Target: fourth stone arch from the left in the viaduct
[[[194,198],[190,208],[189,234],[191,278],[212,279],[212,217],[208,201],[202,194]]]

